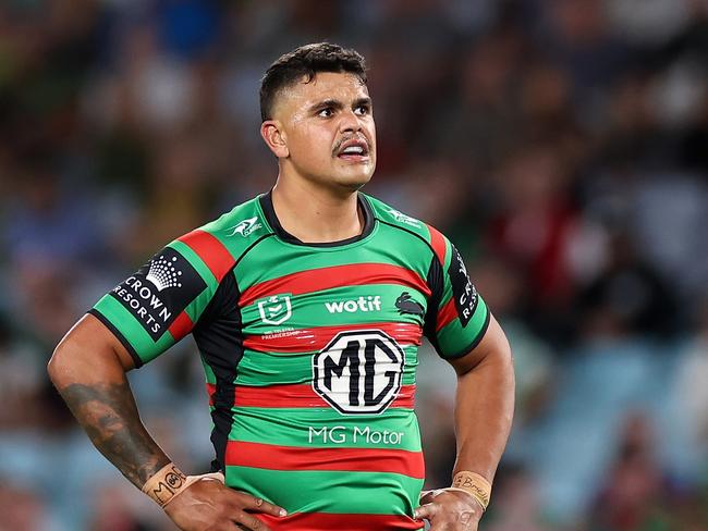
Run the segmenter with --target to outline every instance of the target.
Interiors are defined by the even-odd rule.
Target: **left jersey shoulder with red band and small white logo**
[[[237,205],[170,246],[188,248],[221,280],[251,248],[272,234],[258,199],[259,196]]]

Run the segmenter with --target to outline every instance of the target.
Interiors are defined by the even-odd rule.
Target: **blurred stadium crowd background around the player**
[[[321,39],[370,65],[367,192],[455,242],[515,353],[483,529],[708,529],[707,3],[3,0],[0,529],[169,529],[45,366],[162,244],[271,186],[259,76]],[[454,376],[423,358],[444,485]],[[157,440],[204,470],[192,339],[131,380]]]

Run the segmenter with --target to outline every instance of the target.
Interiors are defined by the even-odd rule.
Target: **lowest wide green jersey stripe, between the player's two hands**
[[[423,480],[389,472],[228,466],[227,485],[278,504],[288,513],[412,516]]]

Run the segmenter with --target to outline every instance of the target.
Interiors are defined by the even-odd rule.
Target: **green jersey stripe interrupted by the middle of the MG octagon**
[[[418,366],[418,347],[401,347],[405,357],[402,385],[415,383],[415,368]],[[313,381],[313,355],[315,353],[260,353],[245,349],[239,363],[239,385],[281,385],[310,383]]]

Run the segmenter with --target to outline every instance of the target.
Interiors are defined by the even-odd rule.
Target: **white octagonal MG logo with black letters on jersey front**
[[[313,387],[342,413],[380,413],[401,390],[404,359],[380,330],[340,332],[313,356]]]

